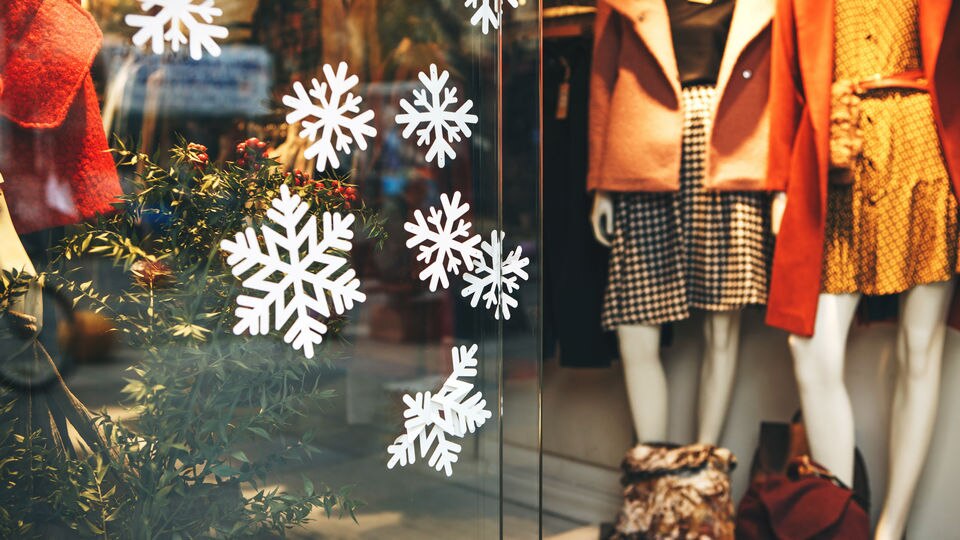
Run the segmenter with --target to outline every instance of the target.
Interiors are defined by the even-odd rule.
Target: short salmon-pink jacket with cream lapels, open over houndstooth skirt
[[[762,190],[767,171],[770,21],[775,0],[738,0],[717,80],[705,184]],[[663,0],[599,0],[587,187],[680,187],[683,111]]]

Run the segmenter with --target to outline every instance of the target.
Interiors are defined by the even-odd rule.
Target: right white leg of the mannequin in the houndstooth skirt
[[[741,311],[708,313],[700,366],[697,441],[717,444],[730,407],[740,349]]]

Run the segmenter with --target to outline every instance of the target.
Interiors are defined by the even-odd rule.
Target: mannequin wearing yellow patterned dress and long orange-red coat
[[[772,119],[770,185],[785,193],[772,206],[779,240],[768,322],[791,333],[812,457],[847,485],[855,444],[843,381],[850,326],[862,294],[901,293],[878,540],[898,540],[906,529],[933,436],[956,287],[960,154],[956,120],[941,114],[947,105],[937,99],[956,93],[955,77],[937,77],[955,73],[948,62],[956,55],[946,51],[956,50],[956,38],[944,34],[960,24],[951,3],[783,1],[774,24],[771,102],[782,114]],[[864,40],[858,16],[871,9],[871,28],[881,30]],[[801,49],[820,61],[798,63]],[[938,52],[942,63],[931,61]],[[827,170],[836,144],[830,115],[842,108],[830,101],[831,84],[864,73],[884,82],[857,89],[864,142],[851,182],[837,183]],[[898,206],[901,198],[907,203]]]

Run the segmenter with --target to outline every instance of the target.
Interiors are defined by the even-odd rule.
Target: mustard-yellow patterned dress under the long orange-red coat
[[[918,0],[835,0],[834,79],[920,69]],[[893,294],[948,281],[957,266],[957,201],[930,95],[861,96],[863,152],[853,184],[828,194],[823,292]]]

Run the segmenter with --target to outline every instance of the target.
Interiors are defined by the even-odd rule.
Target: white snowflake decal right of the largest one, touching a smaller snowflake
[[[430,290],[436,291],[437,285],[446,289],[450,286],[447,272],[460,273],[460,265],[473,270],[474,260],[483,257],[477,248],[480,236],[470,234],[470,222],[463,216],[470,211],[470,205],[460,204],[460,192],[453,193],[453,199],[444,193],[440,195],[442,210],[431,207],[430,217],[423,212],[414,213],[413,222],[403,225],[413,236],[407,240],[407,247],[420,246],[417,260],[427,264],[420,272],[420,279],[430,281]]]

